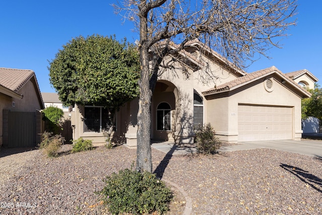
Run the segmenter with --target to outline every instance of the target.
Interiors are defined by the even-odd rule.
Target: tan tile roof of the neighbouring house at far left
[[[34,75],[34,71],[29,69],[0,68],[0,85],[18,93]]]

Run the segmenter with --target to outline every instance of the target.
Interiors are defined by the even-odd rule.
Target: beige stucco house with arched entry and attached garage
[[[151,100],[151,139],[192,143],[194,126],[210,122],[223,141],[300,140],[301,99],[310,97],[303,84],[311,87],[317,81],[309,71],[283,74],[272,66],[246,73],[197,40],[169,57],[178,61],[158,77]],[[212,76],[206,79],[209,71]],[[137,99],[120,109],[115,141],[136,146],[137,112]],[[72,115],[75,138],[104,142],[104,107],[76,105]]]

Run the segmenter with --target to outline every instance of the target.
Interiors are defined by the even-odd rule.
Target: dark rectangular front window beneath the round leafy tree
[[[102,132],[110,128],[109,112],[104,107],[85,107],[84,131]]]

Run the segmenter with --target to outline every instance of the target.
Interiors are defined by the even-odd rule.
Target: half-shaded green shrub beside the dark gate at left
[[[62,130],[61,119],[64,116],[62,109],[57,107],[47,107],[43,110],[43,120],[45,121],[45,129],[48,132],[59,134]]]

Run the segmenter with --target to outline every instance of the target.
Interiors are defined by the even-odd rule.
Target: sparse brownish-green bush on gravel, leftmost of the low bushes
[[[51,136],[52,132],[45,131],[42,134],[42,141],[38,145],[48,157],[57,157],[61,145],[64,144],[65,138],[60,134]]]

